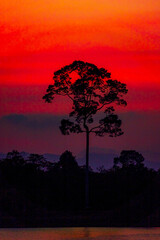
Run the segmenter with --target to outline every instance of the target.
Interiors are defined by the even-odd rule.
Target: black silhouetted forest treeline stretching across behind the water
[[[106,159],[107,161],[107,159]],[[90,169],[90,209],[85,210],[85,167],[65,151],[57,163],[18,151],[0,161],[0,225],[157,226],[160,171],[136,151],[122,151],[113,168]]]

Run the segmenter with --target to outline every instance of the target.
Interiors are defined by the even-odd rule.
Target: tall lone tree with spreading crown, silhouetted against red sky
[[[89,206],[89,136],[117,137],[123,134],[121,120],[114,114],[113,104],[126,106],[123,95],[127,93],[126,84],[111,79],[111,74],[94,64],[74,61],[53,76],[54,84],[49,85],[43,97],[51,103],[55,95],[68,97],[73,105],[69,117],[63,119],[60,130],[62,134],[86,134],[86,208]],[[95,116],[99,114],[99,121]],[[103,112],[103,117],[101,112]]]

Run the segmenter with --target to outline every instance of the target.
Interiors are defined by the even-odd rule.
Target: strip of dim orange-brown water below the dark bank
[[[160,228],[0,229],[0,240],[160,240]]]

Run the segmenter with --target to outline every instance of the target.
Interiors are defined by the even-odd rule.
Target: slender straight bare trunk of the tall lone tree
[[[89,131],[86,131],[86,182],[85,182],[85,207],[89,208]]]

